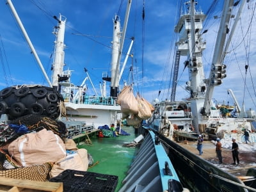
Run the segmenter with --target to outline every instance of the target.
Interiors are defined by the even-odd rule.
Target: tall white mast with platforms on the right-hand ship
[[[177,42],[178,51],[181,56],[187,56],[184,62],[188,68],[189,81],[186,83],[186,90],[190,93],[191,112],[194,115],[194,125],[198,127],[200,122],[204,121],[200,114],[205,100],[205,75],[204,65],[202,63],[202,51],[205,49],[205,42],[202,41],[201,31],[202,22],[205,15],[202,12],[196,12],[195,1],[185,3],[187,11],[180,17],[175,33],[179,33],[179,42]]]

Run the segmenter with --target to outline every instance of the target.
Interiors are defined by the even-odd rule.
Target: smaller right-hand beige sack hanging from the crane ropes
[[[147,120],[152,115],[148,102],[143,99],[143,97],[140,97],[139,94],[137,94],[136,100],[138,102],[138,117],[143,120]]]

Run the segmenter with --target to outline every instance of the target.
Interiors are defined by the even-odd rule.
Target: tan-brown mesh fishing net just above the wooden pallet
[[[45,181],[48,179],[51,168],[51,163],[44,163],[10,170],[0,170],[0,177]]]

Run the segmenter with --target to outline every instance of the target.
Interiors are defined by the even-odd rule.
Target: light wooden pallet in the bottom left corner
[[[0,192],[39,192],[39,191],[54,191],[62,192],[62,182],[41,182],[26,179],[12,179],[8,177],[0,177]]]

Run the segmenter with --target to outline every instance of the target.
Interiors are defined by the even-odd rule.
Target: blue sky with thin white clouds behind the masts
[[[172,65],[173,58],[173,44],[175,42],[175,33],[173,32],[175,22],[177,22],[177,2],[163,0],[159,3],[158,0],[145,0],[145,36],[144,44],[142,38],[142,8],[143,0],[132,0],[131,15],[129,17],[129,24],[127,28],[127,40],[125,40],[124,52],[127,51],[131,36],[135,36],[134,46],[132,52],[134,54],[133,61],[131,58],[127,61],[127,67],[122,80],[129,81],[129,68],[132,63],[134,65],[134,92],[140,92],[145,99],[152,101],[158,97],[158,92],[161,90],[159,100],[166,98],[168,92],[168,81],[170,79],[170,67],[166,69],[166,63]],[[212,1],[211,1],[212,2]],[[0,67],[0,90],[6,86],[15,84],[44,84],[47,86],[47,81],[38,67],[35,58],[30,53],[28,44],[26,44],[19,27],[13,18],[10,8],[1,1],[0,4],[0,35],[1,35],[1,67]],[[53,15],[58,16],[60,13],[67,17],[67,27],[65,33],[65,63],[67,68],[74,70],[72,72],[71,81],[74,84],[81,84],[86,74],[83,68],[88,69],[88,73],[93,81],[95,88],[99,93],[99,82],[102,82],[102,72],[108,72],[110,76],[111,63],[111,38],[113,34],[113,17],[118,13],[120,1],[116,0],[56,0],[56,1],[12,1],[17,13],[19,14],[24,27],[33,43],[40,60],[42,61],[45,70],[49,77],[51,77],[51,54],[54,50],[55,36],[52,35],[52,29],[56,26],[56,20],[52,19]],[[208,1],[199,0],[200,8],[204,13],[209,9]],[[124,1],[122,9],[120,10],[121,25],[124,22],[124,13],[127,2]],[[222,3],[220,3],[222,4]],[[220,4],[218,8],[220,10]],[[254,8],[255,1],[250,4],[250,11]],[[216,12],[218,16],[220,13]],[[248,12],[249,14],[249,12]],[[214,13],[213,13],[214,15]],[[213,17],[212,15],[212,17]],[[253,19],[255,22],[255,19]],[[209,32],[203,36],[207,41],[207,49],[204,54],[205,76],[209,76],[209,68],[211,66],[212,52],[214,51],[214,38],[216,36],[218,27],[218,19],[209,22],[207,29]],[[244,27],[246,28],[246,27]],[[91,36],[75,35],[81,33]],[[252,33],[255,33],[252,29]],[[237,33],[239,38],[239,34]],[[250,47],[252,51],[255,48]],[[241,37],[241,36],[240,36]],[[142,60],[141,49],[144,50],[144,58]],[[255,49],[254,49],[255,50]],[[170,52],[170,54],[169,54]],[[244,48],[237,49],[238,58],[244,58],[242,53]],[[183,58],[182,60],[185,60]],[[233,104],[232,98],[227,95],[227,89],[231,88],[235,93],[239,104],[243,100],[246,108],[254,108],[255,93],[252,89],[251,77],[247,75],[246,83],[248,83],[251,97],[248,92],[244,92],[244,83],[241,80],[241,74],[244,74],[244,62],[237,64],[229,58],[227,68],[227,78],[223,79],[223,84],[214,90],[213,98],[218,102],[228,102]],[[255,59],[255,52],[250,54],[250,60]],[[124,58],[122,59],[124,61]],[[143,61],[143,62],[142,62]],[[143,63],[143,65],[142,65]],[[252,63],[253,64],[253,63]],[[239,68],[241,68],[241,72]],[[188,97],[188,93],[184,91],[186,81],[188,81],[187,70],[183,69],[183,63],[180,62],[180,76],[179,86],[177,88],[176,100]],[[254,68],[254,70],[253,70]],[[255,67],[250,65],[252,79]],[[164,73],[165,72],[165,73]],[[168,74],[169,73],[169,74]],[[141,77],[143,74],[143,89],[141,86]],[[165,75],[163,75],[165,74]],[[248,72],[249,74],[249,72]],[[163,81],[164,80],[164,81]],[[163,81],[163,83],[162,83]],[[88,86],[90,88],[90,83]],[[122,81],[121,81],[122,83]],[[137,84],[138,83],[138,84]],[[137,86],[138,85],[138,86]],[[109,90],[109,84],[107,84]]]

